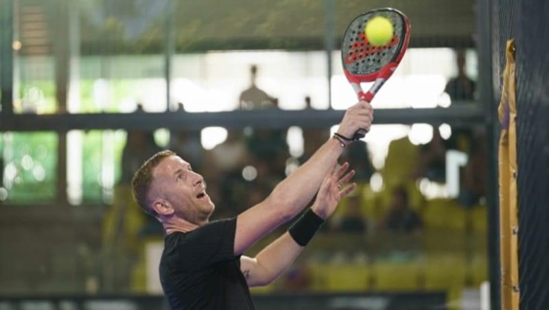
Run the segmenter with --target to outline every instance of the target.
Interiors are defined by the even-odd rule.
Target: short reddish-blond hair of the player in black
[[[141,210],[154,217],[156,217],[156,212],[154,212],[154,209],[148,204],[148,195],[152,181],[154,180],[152,171],[164,158],[174,155],[176,155],[176,153],[170,150],[164,150],[154,154],[148,160],[145,160],[145,163],[135,171],[132,178],[133,198],[137,204],[139,204]]]

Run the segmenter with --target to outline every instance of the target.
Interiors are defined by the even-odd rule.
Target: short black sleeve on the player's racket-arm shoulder
[[[178,256],[187,270],[235,258],[236,217],[210,222],[176,241]]]

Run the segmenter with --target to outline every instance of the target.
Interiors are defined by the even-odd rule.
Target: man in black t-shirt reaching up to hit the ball
[[[340,128],[270,195],[235,218],[209,222],[214,204],[191,165],[173,152],[152,156],[132,179],[143,211],[159,219],[166,232],[160,278],[172,309],[254,309],[248,287],[267,285],[288,267],[344,195],[354,175],[349,164],[334,169],[349,139],[369,130],[372,108],[359,102],[345,112]],[[288,233],[255,258],[242,253],[274,228],[316,201]]]

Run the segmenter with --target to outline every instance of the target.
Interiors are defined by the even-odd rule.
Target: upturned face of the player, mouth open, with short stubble
[[[164,158],[153,171],[153,201],[165,200],[178,217],[194,224],[207,221],[215,208],[206,193],[204,178],[179,156]]]

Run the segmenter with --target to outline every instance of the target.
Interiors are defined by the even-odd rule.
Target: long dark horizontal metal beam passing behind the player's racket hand
[[[340,122],[343,110],[235,110],[227,112],[134,112],[93,114],[12,115],[0,124],[0,131],[66,131],[91,129],[199,130],[209,126],[225,128],[328,128]],[[450,108],[400,108],[375,110],[375,124],[449,123],[468,126],[484,123],[482,106],[474,102]]]

